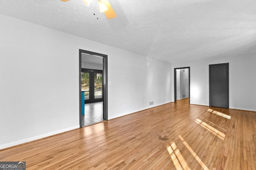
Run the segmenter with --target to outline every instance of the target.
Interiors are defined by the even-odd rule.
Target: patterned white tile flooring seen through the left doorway
[[[91,125],[104,121],[103,102],[94,102],[84,105],[84,115],[82,115],[82,126]]]

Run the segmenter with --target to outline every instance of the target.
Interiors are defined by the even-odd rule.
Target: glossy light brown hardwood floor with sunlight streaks
[[[256,112],[181,100],[0,150],[0,161],[26,161],[27,170],[255,170],[255,146]]]

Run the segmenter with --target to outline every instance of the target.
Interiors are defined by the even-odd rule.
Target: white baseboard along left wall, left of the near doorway
[[[8,148],[8,147],[13,147],[13,146],[20,145],[20,144],[23,144],[23,143],[35,141],[35,140],[38,140],[38,139],[42,139],[44,137],[49,137],[49,136],[52,136],[52,135],[56,135],[58,133],[63,133],[63,132],[66,132],[66,131],[77,129],[79,127],[80,127],[79,125],[78,126],[73,126],[73,127],[69,127],[69,128],[66,128],[66,129],[61,129],[61,130],[58,130],[58,131],[46,133],[46,134],[43,134],[43,135],[38,135],[38,136],[35,136],[35,137],[30,137],[30,138],[27,138],[27,139],[14,141],[14,142],[11,142],[11,143],[6,143],[4,145],[0,145],[0,149],[5,149],[5,148]]]

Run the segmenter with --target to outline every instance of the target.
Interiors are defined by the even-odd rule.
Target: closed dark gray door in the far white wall
[[[229,107],[228,63],[209,65],[210,106]]]

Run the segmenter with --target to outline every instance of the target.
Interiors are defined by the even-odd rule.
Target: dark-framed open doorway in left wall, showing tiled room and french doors
[[[107,55],[79,50],[80,128],[108,120]]]

